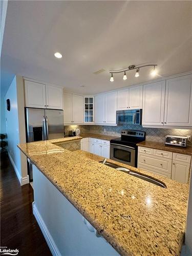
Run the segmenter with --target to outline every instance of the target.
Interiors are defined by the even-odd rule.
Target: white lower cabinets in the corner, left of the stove
[[[101,157],[110,158],[110,141],[94,138],[83,138],[81,139],[81,150]]]

